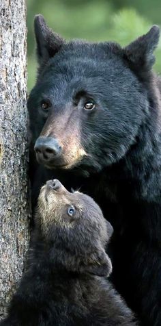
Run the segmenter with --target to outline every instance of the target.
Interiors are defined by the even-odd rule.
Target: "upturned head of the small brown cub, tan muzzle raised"
[[[35,223],[57,268],[100,276],[111,273],[105,246],[113,227],[91,197],[68,192],[57,179],[47,181],[40,191]]]

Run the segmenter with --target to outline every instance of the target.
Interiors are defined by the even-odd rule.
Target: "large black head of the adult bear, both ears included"
[[[38,78],[28,101],[35,155],[47,168],[100,171],[135,144],[151,115],[159,28],[125,48],[65,42],[35,17]]]

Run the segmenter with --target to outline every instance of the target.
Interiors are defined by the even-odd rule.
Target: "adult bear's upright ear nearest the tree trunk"
[[[52,58],[61,49],[65,41],[48,27],[41,14],[35,16],[34,29],[38,62],[42,64]]]

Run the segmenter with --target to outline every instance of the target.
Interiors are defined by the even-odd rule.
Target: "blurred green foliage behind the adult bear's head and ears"
[[[33,18],[38,13],[67,40],[115,40],[122,46],[145,34],[151,25],[161,25],[160,0],[27,0],[29,90],[36,78]],[[161,73],[161,42],[155,69]]]

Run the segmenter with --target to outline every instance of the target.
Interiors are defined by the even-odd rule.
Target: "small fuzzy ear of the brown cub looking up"
[[[97,253],[93,253],[85,266],[81,266],[81,272],[108,277],[112,272],[111,259],[108,257],[104,249]]]

